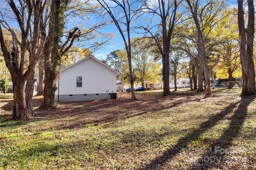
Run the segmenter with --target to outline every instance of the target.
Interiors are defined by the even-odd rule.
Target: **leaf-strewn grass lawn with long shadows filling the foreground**
[[[185,91],[186,92],[186,91]],[[123,94],[11,120],[0,99],[0,169],[256,169],[256,96]]]

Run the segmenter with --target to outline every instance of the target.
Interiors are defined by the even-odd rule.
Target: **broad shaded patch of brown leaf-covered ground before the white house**
[[[118,120],[124,120],[135,116],[145,115],[150,112],[163,111],[177,107],[183,103],[200,100],[189,96],[151,96],[138,97],[137,100],[105,100],[105,101],[82,101],[63,103],[57,109],[36,109],[36,115],[30,121],[6,123],[7,126],[27,124],[33,120],[54,121],[53,124],[41,126],[41,130],[62,130],[84,128],[85,125],[98,125]],[[0,115],[1,116],[1,115]],[[1,119],[0,119],[1,121]],[[3,120],[2,120],[3,121]]]

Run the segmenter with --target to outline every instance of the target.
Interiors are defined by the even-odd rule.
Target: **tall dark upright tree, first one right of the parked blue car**
[[[163,75],[163,96],[170,95],[170,47],[173,38],[174,26],[178,24],[180,14],[177,13],[179,4],[182,1],[142,0],[142,13],[147,13],[145,22],[140,29],[145,33],[144,37],[154,41],[158,52],[162,57],[162,75]]]

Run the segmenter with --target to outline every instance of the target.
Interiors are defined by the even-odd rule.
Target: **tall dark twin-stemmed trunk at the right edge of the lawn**
[[[248,0],[248,25],[245,29],[243,1],[238,4],[238,27],[240,39],[240,58],[242,65],[243,89],[242,96],[256,94],[255,89],[255,70],[253,61],[253,38],[254,38],[254,5],[253,1]],[[247,35],[247,37],[246,37]],[[246,41],[247,40],[247,41]]]

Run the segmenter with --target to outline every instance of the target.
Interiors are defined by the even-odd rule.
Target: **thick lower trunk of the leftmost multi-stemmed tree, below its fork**
[[[28,114],[27,104],[25,100],[25,82],[19,78],[13,81],[13,114],[12,116],[15,120],[25,120],[30,116]]]

